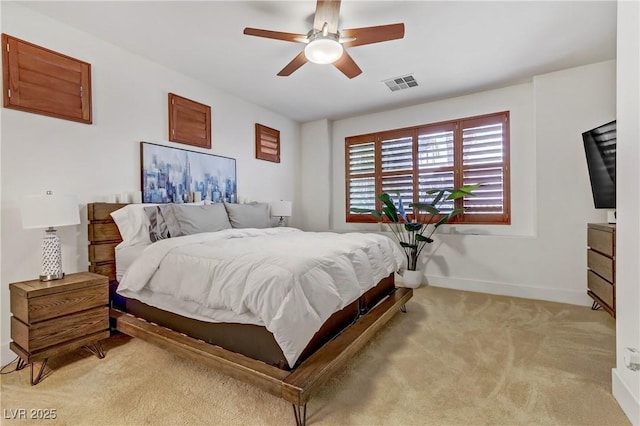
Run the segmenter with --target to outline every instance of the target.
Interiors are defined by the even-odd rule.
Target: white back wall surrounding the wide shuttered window
[[[377,231],[380,225],[345,223],[345,137],[509,110],[512,225],[456,225],[455,232],[438,235],[424,259],[428,282],[588,305],[586,224],[605,221],[606,214],[593,207],[581,134],[615,118],[615,72],[615,62],[607,61],[528,84],[336,121],[324,141],[332,146],[332,186],[305,190],[331,199],[334,230]],[[316,155],[304,157],[303,170],[316,161]]]

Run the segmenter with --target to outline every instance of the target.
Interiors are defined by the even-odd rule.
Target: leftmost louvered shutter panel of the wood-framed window
[[[360,217],[367,220],[370,214],[352,213],[351,209],[376,208],[376,177],[375,177],[375,141],[373,138],[356,138],[346,145],[347,167],[347,214],[352,220]]]

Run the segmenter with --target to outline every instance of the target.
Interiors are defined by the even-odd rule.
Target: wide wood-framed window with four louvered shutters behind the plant
[[[377,194],[400,194],[405,208],[430,201],[426,191],[481,183],[451,223],[509,224],[509,112],[345,139],[347,222],[375,222],[354,207],[381,209]],[[411,213],[410,209],[407,209]]]

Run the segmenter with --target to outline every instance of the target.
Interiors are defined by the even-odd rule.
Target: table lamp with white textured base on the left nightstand
[[[62,247],[54,227],[80,224],[78,197],[75,195],[27,196],[20,208],[24,229],[47,228],[42,240],[42,275],[40,281],[64,278]]]

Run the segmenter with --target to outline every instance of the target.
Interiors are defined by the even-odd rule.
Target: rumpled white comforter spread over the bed
[[[403,259],[378,234],[228,229],[153,243],[118,293],[190,318],[265,326],[293,366],[331,314]]]

